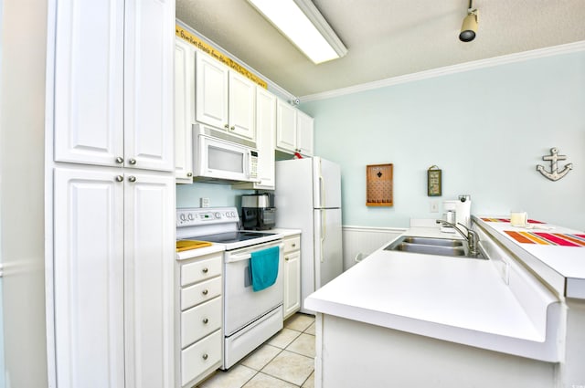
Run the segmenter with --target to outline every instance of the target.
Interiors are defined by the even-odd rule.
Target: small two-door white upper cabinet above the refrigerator
[[[284,100],[276,111],[276,148],[282,152],[299,152],[313,156],[314,119]]]

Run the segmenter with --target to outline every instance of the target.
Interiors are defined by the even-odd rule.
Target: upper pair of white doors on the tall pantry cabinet
[[[55,160],[174,169],[175,6],[59,2]]]

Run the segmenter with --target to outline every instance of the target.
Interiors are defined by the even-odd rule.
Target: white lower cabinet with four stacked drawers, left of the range
[[[177,262],[176,351],[180,387],[191,387],[221,366],[222,263],[217,252]]]

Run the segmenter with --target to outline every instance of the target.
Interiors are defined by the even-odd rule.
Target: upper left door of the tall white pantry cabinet
[[[58,2],[55,160],[123,161],[123,0]],[[118,164],[119,165],[119,164]]]

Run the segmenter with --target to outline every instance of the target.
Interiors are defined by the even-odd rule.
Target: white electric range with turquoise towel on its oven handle
[[[229,369],[282,330],[282,235],[270,230],[239,230],[235,207],[207,207],[177,209],[176,238],[225,248],[222,369]],[[251,254],[272,246],[280,247],[278,277],[271,287],[255,292],[250,281]],[[180,255],[188,257],[189,252]]]

